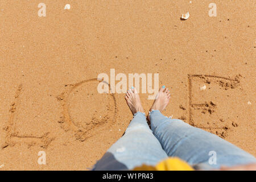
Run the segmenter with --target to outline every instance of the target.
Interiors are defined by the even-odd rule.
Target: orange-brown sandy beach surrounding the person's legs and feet
[[[92,168],[133,118],[125,93],[98,92],[110,69],[127,87],[158,73],[165,115],[256,156],[255,1],[216,0],[209,16],[211,2],[0,0],[0,170]]]

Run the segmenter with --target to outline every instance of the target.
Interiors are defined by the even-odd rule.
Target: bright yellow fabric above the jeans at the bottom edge
[[[193,171],[193,168],[179,158],[168,158],[156,164],[156,166],[135,167],[134,171]]]

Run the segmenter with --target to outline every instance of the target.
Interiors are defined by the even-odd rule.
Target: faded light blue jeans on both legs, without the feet
[[[256,163],[254,156],[214,134],[165,117],[159,110],[150,113],[151,129],[144,113],[134,115],[125,134],[115,142],[93,170],[127,170],[177,157],[195,169],[217,169]]]

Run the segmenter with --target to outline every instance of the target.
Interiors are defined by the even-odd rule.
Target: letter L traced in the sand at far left
[[[20,135],[15,130],[14,117],[18,111],[18,106],[20,104],[20,94],[22,93],[23,86],[20,84],[15,92],[14,102],[10,105],[10,118],[7,125],[3,128],[6,131],[5,143],[2,144],[1,148],[6,148],[8,146],[14,146],[16,143],[26,143],[28,148],[31,146],[40,146],[42,148],[47,148],[48,145],[54,140],[54,138],[49,137],[49,133],[45,133],[41,136],[34,135]]]

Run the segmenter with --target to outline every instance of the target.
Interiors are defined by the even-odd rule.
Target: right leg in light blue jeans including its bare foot
[[[168,91],[160,89],[150,113],[151,129],[168,156],[177,156],[203,169],[256,163],[254,156],[226,140],[179,119],[165,117],[159,110],[163,109],[161,103],[169,99]]]

